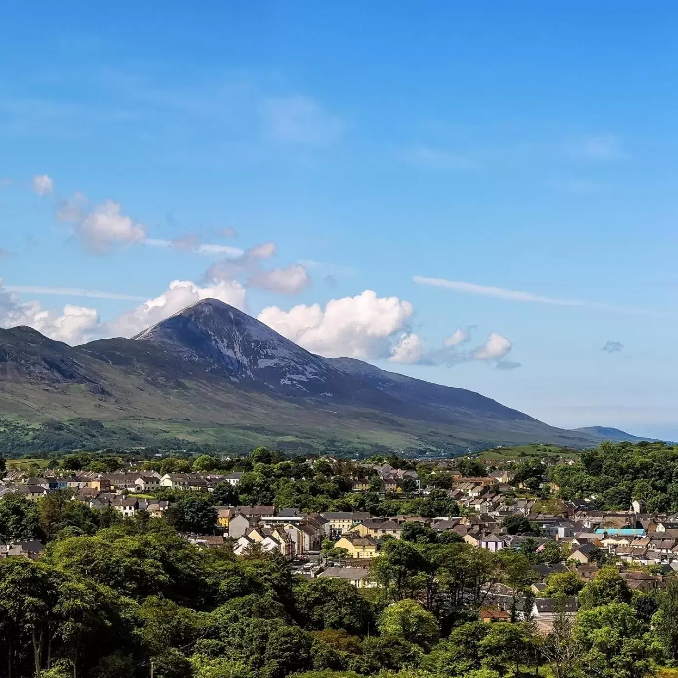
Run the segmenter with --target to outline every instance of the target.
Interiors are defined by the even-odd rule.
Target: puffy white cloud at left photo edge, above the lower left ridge
[[[66,305],[62,313],[43,308],[37,301],[23,302],[8,292],[0,280],[0,327],[28,325],[56,341],[77,344],[98,324],[95,308]]]

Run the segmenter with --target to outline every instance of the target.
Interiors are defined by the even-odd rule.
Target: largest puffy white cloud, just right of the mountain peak
[[[290,311],[268,306],[258,319],[313,353],[386,359],[412,313],[410,302],[365,290],[353,297],[333,299],[324,309],[320,304],[299,304]]]

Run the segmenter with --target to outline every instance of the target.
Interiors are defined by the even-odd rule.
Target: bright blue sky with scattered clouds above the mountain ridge
[[[79,342],[216,295],[313,351],[678,439],[673,3],[0,26],[0,325]]]

